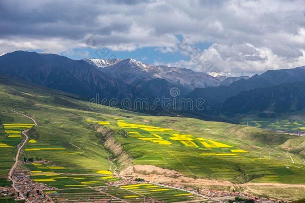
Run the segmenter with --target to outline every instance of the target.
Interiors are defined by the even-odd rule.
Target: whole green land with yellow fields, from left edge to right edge
[[[236,184],[305,184],[302,160],[305,155],[304,137],[223,122],[148,116],[107,106],[92,110],[87,102],[78,100],[75,95],[21,86],[9,80],[0,83],[0,106],[0,143],[11,146],[0,148],[1,177],[6,179],[13,164],[16,145],[22,139],[8,137],[3,124],[32,123],[30,119],[11,111],[14,110],[32,116],[38,122],[38,126],[29,130],[29,141],[21,158],[49,161],[48,165],[25,166],[34,171],[31,172],[31,179],[64,189],[64,192],[58,191],[58,198],[69,195],[66,191],[70,186],[65,185],[102,187],[108,181],[115,182],[114,178],[100,178],[98,174],[101,173],[97,172],[112,170],[113,163],[117,166],[116,172],[128,164],[145,164],[176,170],[192,178],[228,180]],[[12,130],[24,128],[12,127]],[[111,136],[128,154],[131,159],[128,164],[103,145],[104,135]],[[108,161],[109,157],[113,163]],[[73,179],[73,175],[67,177],[64,173],[93,174],[93,177]],[[141,186],[135,190],[117,186],[107,188],[107,194],[134,198],[134,201],[151,193],[168,202],[189,198],[188,195],[174,195],[185,192],[172,189],[160,192]],[[87,189],[92,195],[96,192]],[[168,193],[170,198],[166,199],[161,193]],[[51,192],[50,195],[55,194]]]

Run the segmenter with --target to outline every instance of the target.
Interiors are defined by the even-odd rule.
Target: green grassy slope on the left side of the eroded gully
[[[39,125],[31,130],[30,138],[35,139],[37,143],[27,143],[25,148],[65,148],[65,150],[26,151],[26,157],[41,157],[76,171],[109,168],[107,153],[99,144],[100,139],[92,130],[82,126],[81,117],[75,114],[72,108],[69,111],[60,108],[64,100],[58,102],[56,97],[49,96],[49,92],[45,93],[46,89],[20,87],[17,83],[15,85],[0,86],[1,115],[5,114],[7,119],[11,119],[9,110],[13,109],[35,117]],[[15,96],[16,92],[18,96]],[[60,95],[59,92],[52,94]],[[71,105],[69,102],[66,104]],[[61,152],[82,152],[69,142],[81,146],[84,153],[61,154]],[[9,156],[9,159],[12,160],[12,157]]]

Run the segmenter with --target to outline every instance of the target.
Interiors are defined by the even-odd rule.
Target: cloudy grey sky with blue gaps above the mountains
[[[0,55],[15,50],[251,76],[305,65],[305,3],[0,1]]]

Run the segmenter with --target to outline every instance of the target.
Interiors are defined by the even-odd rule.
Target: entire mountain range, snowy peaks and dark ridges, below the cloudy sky
[[[134,59],[72,60],[55,54],[15,51],[0,56],[0,75],[29,83],[74,93],[80,99],[99,97],[119,101],[140,98],[204,99],[204,110],[158,109],[164,115],[174,112],[217,120],[234,120],[239,114],[277,115],[300,111],[305,89],[305,66],[269,70],[252,77],[213,77],[185,68],[155,66]],[[150,112],[155,114],[155,112]]]

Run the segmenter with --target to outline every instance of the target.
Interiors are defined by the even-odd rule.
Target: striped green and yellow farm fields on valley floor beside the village
[[[88,174],[73,174],[69,169],[45,163],[28,163],[30,178],[35,182],[43,182],[49,187],[45,190],[54,201],[63,199],[95,199],[106,201],[126,199],[141,202],[143,197],[153,198],[163,202],[184,201],[198,198],[198,196],[160,185],[150,183],[122,184],[120,178],[113,177],[108,170],[97,170]]]

